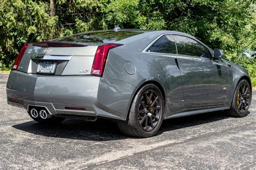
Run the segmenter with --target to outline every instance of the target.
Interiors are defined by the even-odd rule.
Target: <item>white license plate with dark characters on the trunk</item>
[[[37,73],[54,74],[56,65],[56,61],[40,61],[37,67]]]

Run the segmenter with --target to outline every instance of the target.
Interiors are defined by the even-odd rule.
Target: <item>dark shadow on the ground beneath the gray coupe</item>
[[[200,115],[167,119],[163,121],[157,135],[176,129],[206,124],[229,118],[225,112],[209,112]],[[45,137],[68,138],[77,140],[107,141],[132,138],[119,131],[116,122],[108,119],[98,119],[96,122],[86,122],[78,119],[66,119],[60,124],[40,124],[35,121],[16,124],[15,129]]]

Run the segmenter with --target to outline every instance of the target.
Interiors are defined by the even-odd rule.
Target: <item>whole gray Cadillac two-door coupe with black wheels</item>
[[[181,32],[107,30],[25,44],[7,83],[8,104],[40,123],[110,118],[151,137],[163,119],[227,110],[248,114],[246,70]]]

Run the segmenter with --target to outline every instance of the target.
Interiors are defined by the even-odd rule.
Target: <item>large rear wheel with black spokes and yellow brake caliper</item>
[[[117,122],[117,125],[129,136],[152,137],[159,130],[163,118],[163,94],[156,85],[146,84],[134,97],[127,121]]]

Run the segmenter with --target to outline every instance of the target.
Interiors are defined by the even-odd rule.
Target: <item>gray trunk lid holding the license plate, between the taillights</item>
[[[49,75],[90,75],[96,49],[97,46],[49,47],[31,44],[18,70]]]

